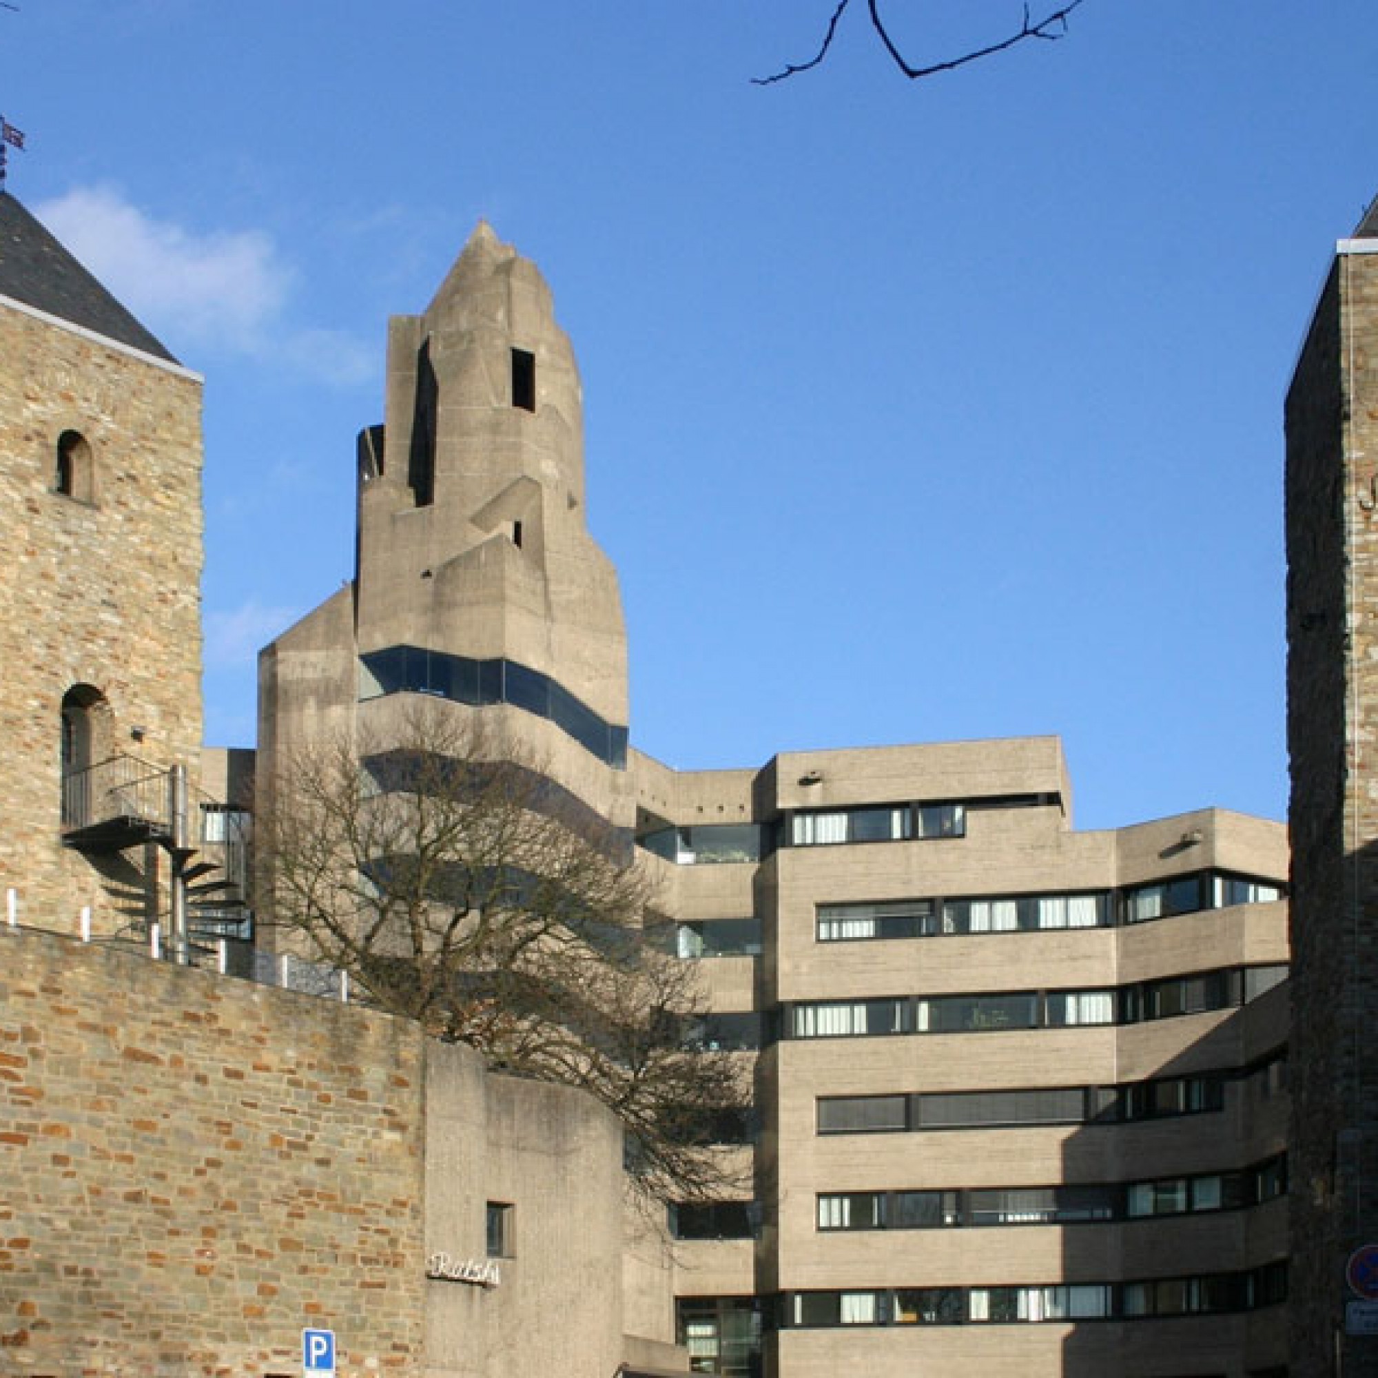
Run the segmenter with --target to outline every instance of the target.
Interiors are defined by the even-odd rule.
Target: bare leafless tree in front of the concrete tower
[[[288,941],[499,1069],[590,1091],[645,1193],[701,1199],[730,1185],[707,1127],[743,1105],[743,1075],[686,1047],[697,971],[649,941],[650,886],[615,842],[434,711],[386,750],[332,739],[280,762],[260,874]]]

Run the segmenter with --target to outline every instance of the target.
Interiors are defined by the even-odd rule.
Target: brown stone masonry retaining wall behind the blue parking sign
[[[0,1374],[423,1368],[415,1027],[0,927]]]

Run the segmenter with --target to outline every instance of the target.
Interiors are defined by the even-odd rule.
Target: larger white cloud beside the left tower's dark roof
[[[358,340],[289,320],[298,274],[262,230],[198,234],[109,185],[73,187],[34,214],[175,350],[229,350],[336,384],[368,376]]]

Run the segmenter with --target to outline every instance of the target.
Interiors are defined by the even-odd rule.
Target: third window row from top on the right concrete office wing
[[[787,1006],[785,1029],[788,1038],[805,1039],[1138,1024],[1246,1005],[1286,977],[1286,966],[1247,966],[1100,991],[810,1000]]]

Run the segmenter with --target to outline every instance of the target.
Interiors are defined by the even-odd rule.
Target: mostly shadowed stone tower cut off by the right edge
[[[1378,1243],[1378,203],[1287,395],[1294,1378],[1378,1374],[1346,1259]]]

